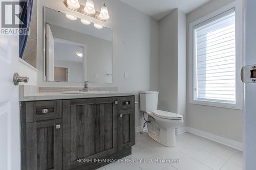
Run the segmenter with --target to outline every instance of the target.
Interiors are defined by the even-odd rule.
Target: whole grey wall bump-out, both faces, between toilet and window
[[[159,109],[184,116],[185,51],[186,14],[177,8],[159,21]]]

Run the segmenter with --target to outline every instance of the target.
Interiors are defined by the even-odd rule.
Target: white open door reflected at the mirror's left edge
[[[46,72],[47,81],[54,81],[54,38],[49,24],[46,25]]]

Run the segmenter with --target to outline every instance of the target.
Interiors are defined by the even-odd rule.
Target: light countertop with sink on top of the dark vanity
[[[115,96],[137,95],[136,92],[110,91],[108,93],[82,93],[82,94],[63,94],[61,92],[38,92],[24,95],[22,101],[44,101],[44,100],[65,100],[65,99],[83,99],[83,98],[106,98]]]

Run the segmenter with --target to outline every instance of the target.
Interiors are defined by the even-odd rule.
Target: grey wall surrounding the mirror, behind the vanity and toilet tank
[[[83,5],[85,2],[80,1]],[[118,86],[120,91],[158,90],[158,21],[118,0],[94,1],[95,8],[100,10],[103,3],[108,6],[111,18],[106,22],[95,22],[113,29],[113,83],[90,85]],[[43,81],[42,6],[87,18],[67,9],[63,1],[38,1],[38,85],[82,86],[82,83]],[[125,70],[129,71],[129,79],[124,79]],[[143,122],[136,105],[136,126]]]

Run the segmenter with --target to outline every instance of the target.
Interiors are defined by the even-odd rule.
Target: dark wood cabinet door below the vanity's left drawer
[[[62,169],[61,119],[26,124],[26,169]]]

